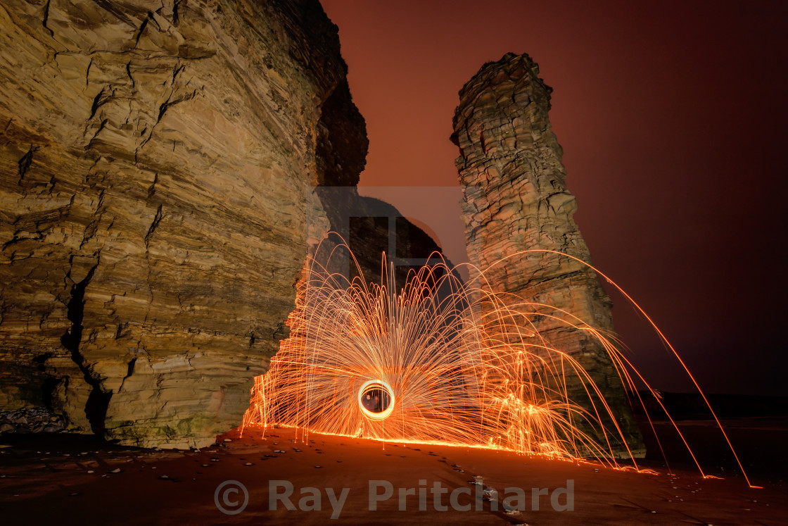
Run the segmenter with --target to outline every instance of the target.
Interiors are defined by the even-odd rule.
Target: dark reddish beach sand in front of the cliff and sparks
[[[724,479],[690,470],[670,434],[663,448],[676,459],[671,468],[658,460],[641,464],[656,475],[466,447],[303,439],[284,428],[269,429],[265,438],[255,430],[240,438],[234,430],[218,438],[220,446],[199,452],[121,448],[84,436],[5,436],[0,517],[3,524],[322,524],[332,515],[352,524],[786,524],[785,423],[726,423],[752,482],[763,489],[747,486],[725,456],[719,431],[704,421],[682,423],[682,432],[707,474]],[[247,498],[226,481],[243,484]],[[270,494],[285,492],[288,483],[289,498],[271,505]],[[370,485],[378,495],[371,501]],[[499,492],[497,502],[485,488]],[[506,488],[520,488],[524,498],[504,506],[518,493]],[[245,500],[240,513],[219,509],[236,512]]]

